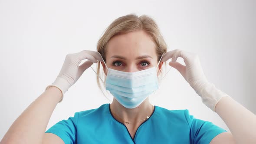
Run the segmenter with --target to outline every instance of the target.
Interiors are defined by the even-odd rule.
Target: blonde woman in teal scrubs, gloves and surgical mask
[[[116,19],[98,41],[98,52],[68,54],[52,85],[12,124],[1,144],[255,144],[256,116],[207,81],[197,55],[176,49],[167,52],[158,26],[148,16]],[[184,59],[186,65],[176,62]],[[79,63],[88,59],[79,66]],[[150,104],[168,59],[207,107],[217,112],[230,132],[187,110],[167,110]],[[76,112],[46,130],[64,93],[93,63],[103,66],[111,104]],[[103,75],[104,76],[104,75]],[[100,85],[100,84],[99,84]],[[47,105],[47,106],[46,106]]]

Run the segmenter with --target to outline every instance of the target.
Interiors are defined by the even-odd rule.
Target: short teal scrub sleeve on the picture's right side
[[[190,126],[190,144],[209,144],[218,134],[226,132],[210,121],[194,118],[188,110],[185,110],[185,115]]]

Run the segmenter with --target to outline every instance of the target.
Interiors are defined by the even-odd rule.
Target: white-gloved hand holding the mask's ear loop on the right
[[[184,59],[185,65],[176,62],[177,58]],[[215,106],[221,98],[229,96],[218,90],[215,85],[208,82],[200,64],[198,56],[194,53],[185,52],[180,49],[175,49],[164,54],[162,62],[171,59],[169,65],[177,69],[195,92],[202,98],[205,104],[212,111],[215,111]]]

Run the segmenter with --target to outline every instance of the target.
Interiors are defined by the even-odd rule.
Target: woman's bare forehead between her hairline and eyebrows
[[[133,58],[141,55],[157,57],[156,45],[144,31],[135,31],[112,37],[107,45],[106,57],[120,55]]]

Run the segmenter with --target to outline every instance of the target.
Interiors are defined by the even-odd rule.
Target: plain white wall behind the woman
[[[107,26],[130,13],[151,16],[168,50],[197,53],[208,81],[255,114],[255,7],[254,0],[0,0],[0,139],[56,79],[68,53],[96,50]],[[229,131],[176,69],[151,102],[188,109],[195,118]],[[47,129],[76,111],[105,103],[110,101],[87,69],[56,106]]]

